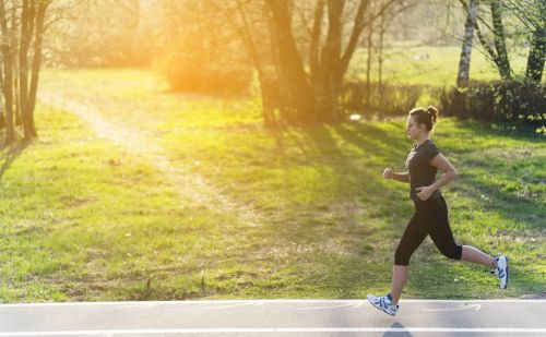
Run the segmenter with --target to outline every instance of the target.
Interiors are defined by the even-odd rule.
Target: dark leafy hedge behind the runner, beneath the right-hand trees
[[[440,95],[441,111],[448,116],[478,121],[529,124],[546,129],[546,87],[519,82],[474,82],[467,88],[446,88]]]

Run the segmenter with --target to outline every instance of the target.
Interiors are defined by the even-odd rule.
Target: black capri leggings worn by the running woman
[[[420,245],[423,240],[430,234],[440,252],[454,260],[461,260],[463,248],[453,240],[449,227],[448,205],[443,196],[415,203],[415,214],[407,224],[404,234],[394,253],[394,264],[407,266],[410,257]]]

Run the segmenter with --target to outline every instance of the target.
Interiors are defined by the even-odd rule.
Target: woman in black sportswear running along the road
[[[395,173],[391,168],[383,171],[384,179],[408,182],[410,197],[415,213],[407,224],[404,234],[394,253],[391,291],[383,297],[368,294],[368,301],[379,310],[394,316],[399,311],[399,300],[407,280],[410,257],[427,236],[447,257],[463,260],[491,268],[500,280],[500,288],[508,282],[508,257],[492,257],[471,245],[458,245],[448,220],[448,206],[440,188],[458,174],[451,163],[440,153],[430,140],[432,127],[438,118],[435,107],[415,108],[407,117],[407,137],[415,141],[406,159],[407,172]],[[440,169],[443,174],[436,181]]]

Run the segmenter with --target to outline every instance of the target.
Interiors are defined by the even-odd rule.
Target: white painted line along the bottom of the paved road
[[[491,333],[546,334],[546,328],[443,328],[443,327],[264,327],[264,328],[178,328],[110,329],[60,332],[4,332],[0,337],[19,336],[95,336],[95,335],[168,335],[168,334],[258,334],[258,333]]]

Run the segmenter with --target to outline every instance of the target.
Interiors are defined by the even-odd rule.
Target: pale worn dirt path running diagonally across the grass
[[[108,121],[94,107],[67,99],[61,95],[40,93],[38,99],[44,105],[74,113],[91,125],[98,136],[123,146],[131,154],[156,167],[180,195],[190,196],[210,209],[236,215],[247,226],[254,227],[259,224],[258,216],[252,209],[237,205],[226,195],[215,191],[199,173],[173,166],[165,149],[156,145],[144,132]]]

